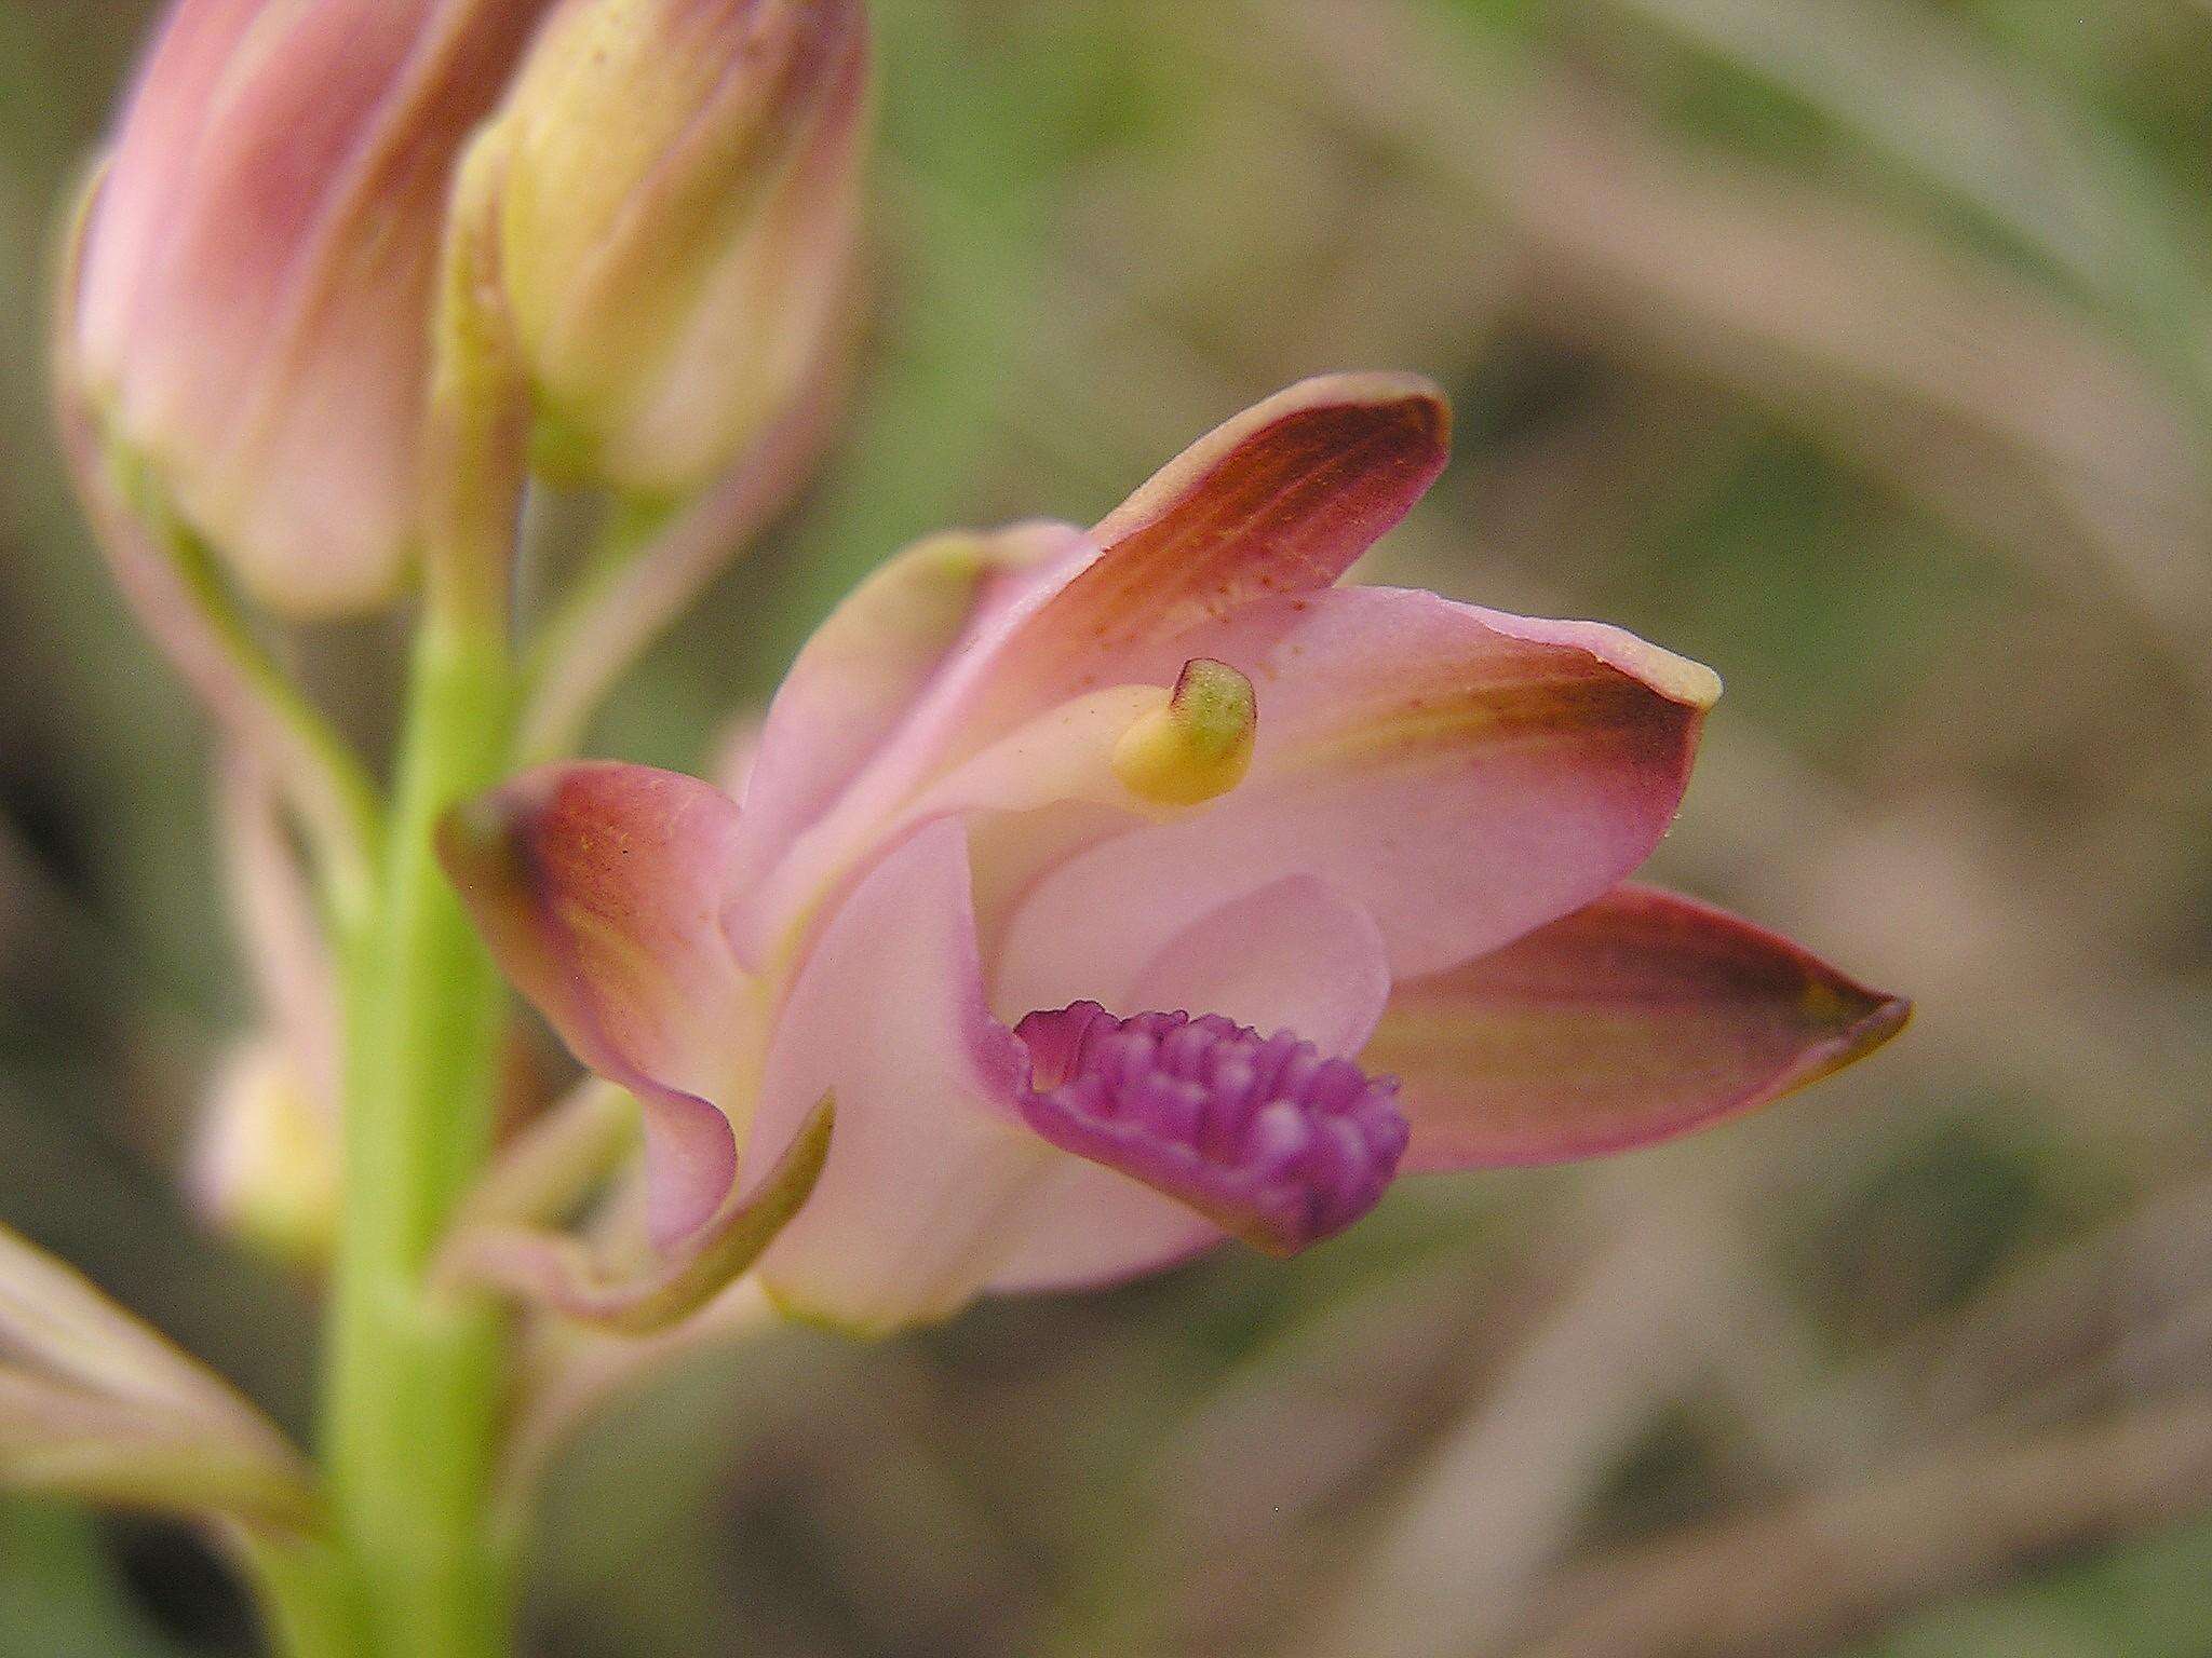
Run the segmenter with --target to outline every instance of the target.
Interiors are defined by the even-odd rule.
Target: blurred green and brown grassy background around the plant
[[[0,1218],[301,1424],[312,1289],[173,1187],[250,1017],[206,734],[38,374],[146,15],[0,0]],[[697,767],[916,533],[1422,369],[1458,458],[1369,575],[1714,663],[1659,873],[1920,1019],[1287,1267],[697,1355],[562,1466],[535,1651],[2212,1651],[2212,2],[878,15],[854,420],[599,752]],[[0,1658],[250,1649],[188,1534],[0,1505]]]

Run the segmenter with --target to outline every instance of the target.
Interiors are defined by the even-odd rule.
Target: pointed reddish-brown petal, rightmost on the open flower
[[[1360,1063],[1405,1085],[1407,1167],[1557,1163],[1765,1105],[1874,1052],[1907,1015],[1785,937],[1621,886],[1400,984]]]

